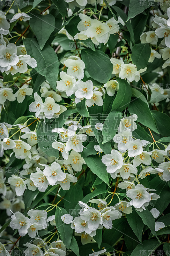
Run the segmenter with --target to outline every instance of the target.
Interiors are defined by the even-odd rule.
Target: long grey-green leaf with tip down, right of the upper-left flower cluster
[[[50,86],[56,91],[59,63],[55,51],[47,44],[41,51],[35,39],[26,38],[24,44],[27,53],[37,61],[35,70],[45,76]]]

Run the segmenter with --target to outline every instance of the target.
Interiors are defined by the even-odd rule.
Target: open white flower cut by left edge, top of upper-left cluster
[[[8,65],[16,65],[19,61],[17,56],[17,46],[15,44],[8,44],[7,46],[0,46],[0,66],[7,67]]]

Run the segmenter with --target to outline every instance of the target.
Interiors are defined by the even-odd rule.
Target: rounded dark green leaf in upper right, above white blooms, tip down
[[[149,44],[135,44],[132,48],[132,61],[137,66],[137,70],[145,68],[151,56]]]

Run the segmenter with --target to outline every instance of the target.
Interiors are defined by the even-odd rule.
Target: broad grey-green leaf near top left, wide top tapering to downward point
[[[55,28],[55,18],[51,14],[47,15],[34,15],[29,20],[30,27],[37,38],[40,49],[42,50],[49,36]]]

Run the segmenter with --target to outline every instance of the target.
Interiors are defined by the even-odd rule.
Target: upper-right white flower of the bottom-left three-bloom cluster
[[[47,212],[44,210],[29,210],[27,212],[30,216],[31,224],[37,223],[42,226],[42,228],[47,228]]]

